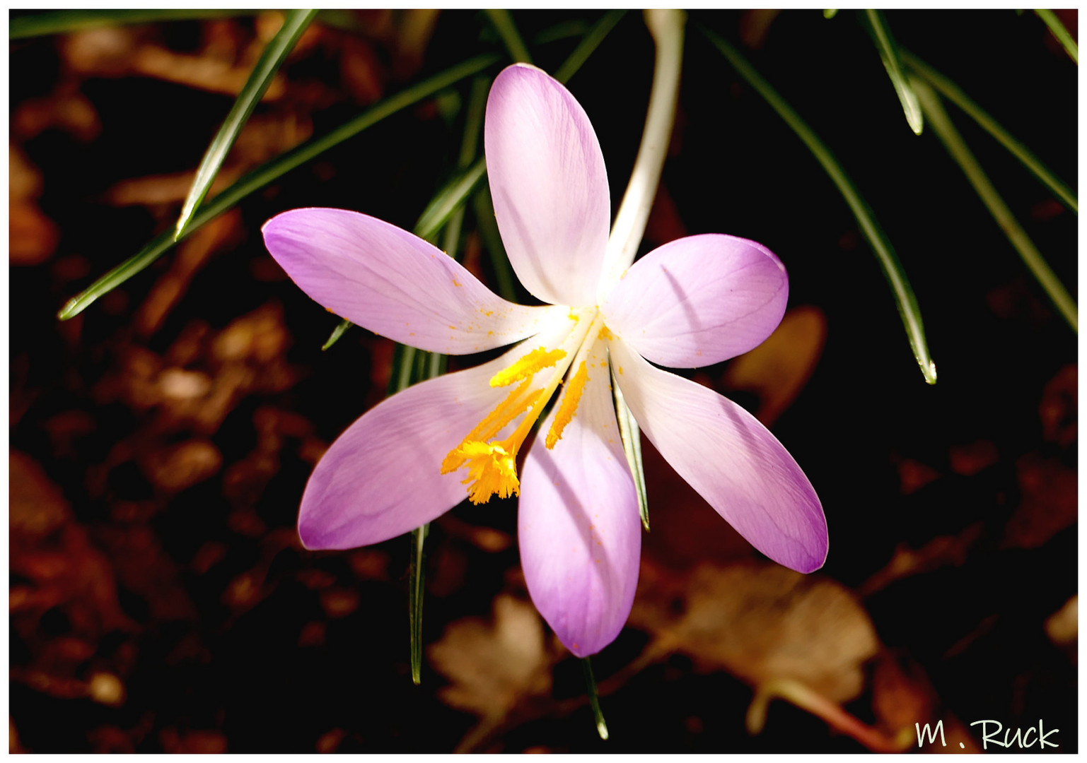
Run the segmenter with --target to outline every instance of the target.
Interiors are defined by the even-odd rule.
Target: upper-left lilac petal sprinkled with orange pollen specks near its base
[[[264,243],[322,306],[421,349],[464,355],[501,347],[558,315],[502,300],[438,247],[357,212],[285,212],[264,224]]]

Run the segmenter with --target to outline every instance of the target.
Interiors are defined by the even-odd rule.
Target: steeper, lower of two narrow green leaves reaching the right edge
[[[1064,316],[1072,330],[1078,333],[1079,319],[1075,300],[1072,298],[1064,284],[1057,278],[1057,275],[1049,267],[1045,257],[1041,256],[1041,253],[1034,245],[1034,242],[1030,241],[1026,231],[1019,224],[1019,220],[1015,219],[1012,211],[1008,208],[1004,200],[1000,198],[997,189],[989,181],[988,176],[986,176],[985,170],[982,169],[982,165],[974,157],[974,154],[971,153],[966,147],[966,142],[954,128],[947,112],[944,111],[939,97],[921,79],[914,79],[913,87],[921,99],[921,105],[928,115],[928,123],[936,130],[936,135],[948,150],[948,153],[951,154],[951,158],[955,161],[966,175],[966,179],[974,187],[977,195],[988,208],[989,214],[992,215],[992,218],[1000,226],[1004,236],[1008,237],[1012,246],[1019,252],[1020,257],[1023,258],[1023,262],[1038,280],[1038,283],[1046,290],[1046,294],[1049,295],[1053,305]]]

